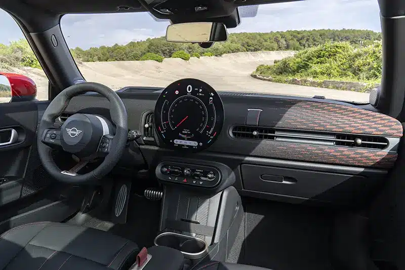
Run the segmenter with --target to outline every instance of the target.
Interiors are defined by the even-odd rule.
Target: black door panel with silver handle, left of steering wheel
[[[40,166],[35,154],[38,107],[34,101],[1,104],[0,115],[0,130],[18,133],[13,143],[0,145],[0,205],[4,205],[39,190],[33,185]],[[44,181],[46,177],[37,179]]]

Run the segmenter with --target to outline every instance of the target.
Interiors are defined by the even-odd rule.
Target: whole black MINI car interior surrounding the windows
[[[60,27],[144,12],[209,48],[238,7],[280,2],[0,0],[49,79],[49,100],[0,104],[0,269],[405,269],[404,1],[378,0],[369,104],[186,76],[113,91],[86,82]]]

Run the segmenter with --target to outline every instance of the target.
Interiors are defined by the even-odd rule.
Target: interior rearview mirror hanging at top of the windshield
[[[171,24],[166,31],[168,42],[217,42],[227,41],[228,32],[223,23],[190,22]]]

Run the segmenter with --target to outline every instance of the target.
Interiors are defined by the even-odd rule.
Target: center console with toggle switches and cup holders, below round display
[[[190,265],[225,261],[244,213],[233,171],[217,162],[167,158],[155,173],[164,185],[155,246],[180,251]]]

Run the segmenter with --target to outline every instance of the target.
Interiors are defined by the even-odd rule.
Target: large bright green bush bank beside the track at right
[[[348,42],[326,43],[274,61],[274,65],[259,65],[255,73],[318,80],[378,80],[382,75],[382,45],[381,42],[367,47],[355,47]]]

